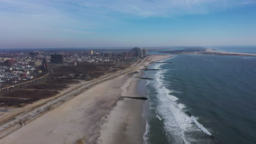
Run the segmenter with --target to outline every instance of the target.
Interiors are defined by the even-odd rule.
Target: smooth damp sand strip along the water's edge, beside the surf
[[[173,55],[154,55],[152,62],[159,62],[165,59],[173,58]],[[148,67],[152,63],[142,65]],[[135,79],[145,75],[144,70],[137,70],[138,74],[133,75],[125,82],[122,87],[122,96],[129,97],[147,97],[146,80]],[[141,84],[141,85],[140,85]],[[143,85],[143,86],[142,86]],[[146,118],[143,116],[147,109],[147,101],[124,99],[117,103],[112,111],[109,112],[106,123],[101,126],[101,134],[98,143],[118,144],[118,143],[144,143],[146,133]]]

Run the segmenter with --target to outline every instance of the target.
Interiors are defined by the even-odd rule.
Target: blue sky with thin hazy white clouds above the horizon
[[[0,48],[256,45],[256,0],[0,0]]]

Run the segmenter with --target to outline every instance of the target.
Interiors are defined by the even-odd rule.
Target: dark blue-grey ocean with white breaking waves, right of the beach
[[[177,55],[165,62],[173,63],[150,65],[163,70],[144,75],[153,78],[146,82],[145,143],[256,143],[256,57]]]

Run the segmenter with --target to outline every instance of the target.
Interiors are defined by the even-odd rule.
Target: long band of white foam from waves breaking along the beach
[[[160,65],[162,64],[158,64],[158,67],[155,68],[160,68]],[[161,79],[161,77],[164,76],[164,73],[164,70],[158,71],[155,74],[156,81],[148,82],[153,84],[158,93],[156,95],[156,98],[159,101],[156,117],[164,122],[164,129],[171,141],[173,143],[190,143],[189,141],[196,141],[193,140],[193,137],[186,135],[186,133],[193,133],[193,131],[199,130],[207,135],[211,135],[211,133],[198,123],[193,116],[189,117],[184,113],[183,109],[186,106],[182,103],[177,103],[178,98],[171,94],[175,93],[175,91],[168,89],[165,86],[165,81]]]

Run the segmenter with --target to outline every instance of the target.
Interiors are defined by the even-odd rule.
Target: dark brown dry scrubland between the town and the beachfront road
[[[65,79],[53,77],[44,81],[13,89],[0,94],[0,106],[24,106],[34,101],[54,97],[59,91],[68,88],[68,84],[79,83],[76,79],[91,80],[106,73],[113,73],[130,67],[133,63],[78,63],[77,66],[62,65],[53,68],[53,76],[66,76]],[[72,74],[73,76],[70,76]],[[83,142],[80,139],[79,142]]]

